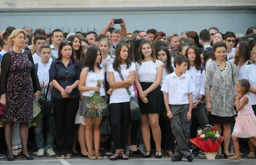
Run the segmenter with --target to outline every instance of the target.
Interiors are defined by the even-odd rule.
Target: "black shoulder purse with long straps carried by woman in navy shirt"
[[[57,72],[57,70],[58,70],[58,65],[56,65],[56,72]],[[41,114],[44,115],[44,116],[51,116],[54,113],[53,98],[54,98],[54,95],[55,95],[56,88],[54,88],[51,100],[47,100],[49,86],[50,86],[50,81],[48,83],[48,87],[47,87],[47,91],[46,91],[46,96],[45,96],[45,101],[42,101],[42,103],[41,103]]]

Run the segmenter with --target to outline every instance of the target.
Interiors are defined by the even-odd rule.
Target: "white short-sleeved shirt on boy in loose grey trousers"
[[[191,77],[183,73],[181,77],[173,72],[165,77],[161,91],[169,93],[168,103],[170,105],[188,104],[188,93],[195,91]]]

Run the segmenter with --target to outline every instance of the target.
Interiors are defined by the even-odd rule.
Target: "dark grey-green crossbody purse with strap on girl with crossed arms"
[[[123,75],[120,71],[117,71],[121,80],[124,80]],[[135,95],[132,95],[129,88],[125,88],[129,97],[130,97],[130,112],[132,120],[139,120],[140,119],[140,107],[138,103],[138,99]]]

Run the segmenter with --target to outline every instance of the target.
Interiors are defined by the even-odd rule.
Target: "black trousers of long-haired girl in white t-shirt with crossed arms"
[[[125,149],[131,119],[130,103],[111,103],[109,104],[109,111],[114,149]]]

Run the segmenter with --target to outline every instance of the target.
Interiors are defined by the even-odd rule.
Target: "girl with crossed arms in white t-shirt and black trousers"
[[[132,95],[135,95],[133,83],[135,82],[135,64],[126,43],[119,43],[116,47],[116,58],[109,66],[109,86],[113,88],[110,93],[110,127],[114,142],[115,153],[110,160],[128,160],[124,154],[125,145],[129,133],[131,119],[130,97],[125,88],[128,88]],[[118,72],[124,78],[121,80]]]

